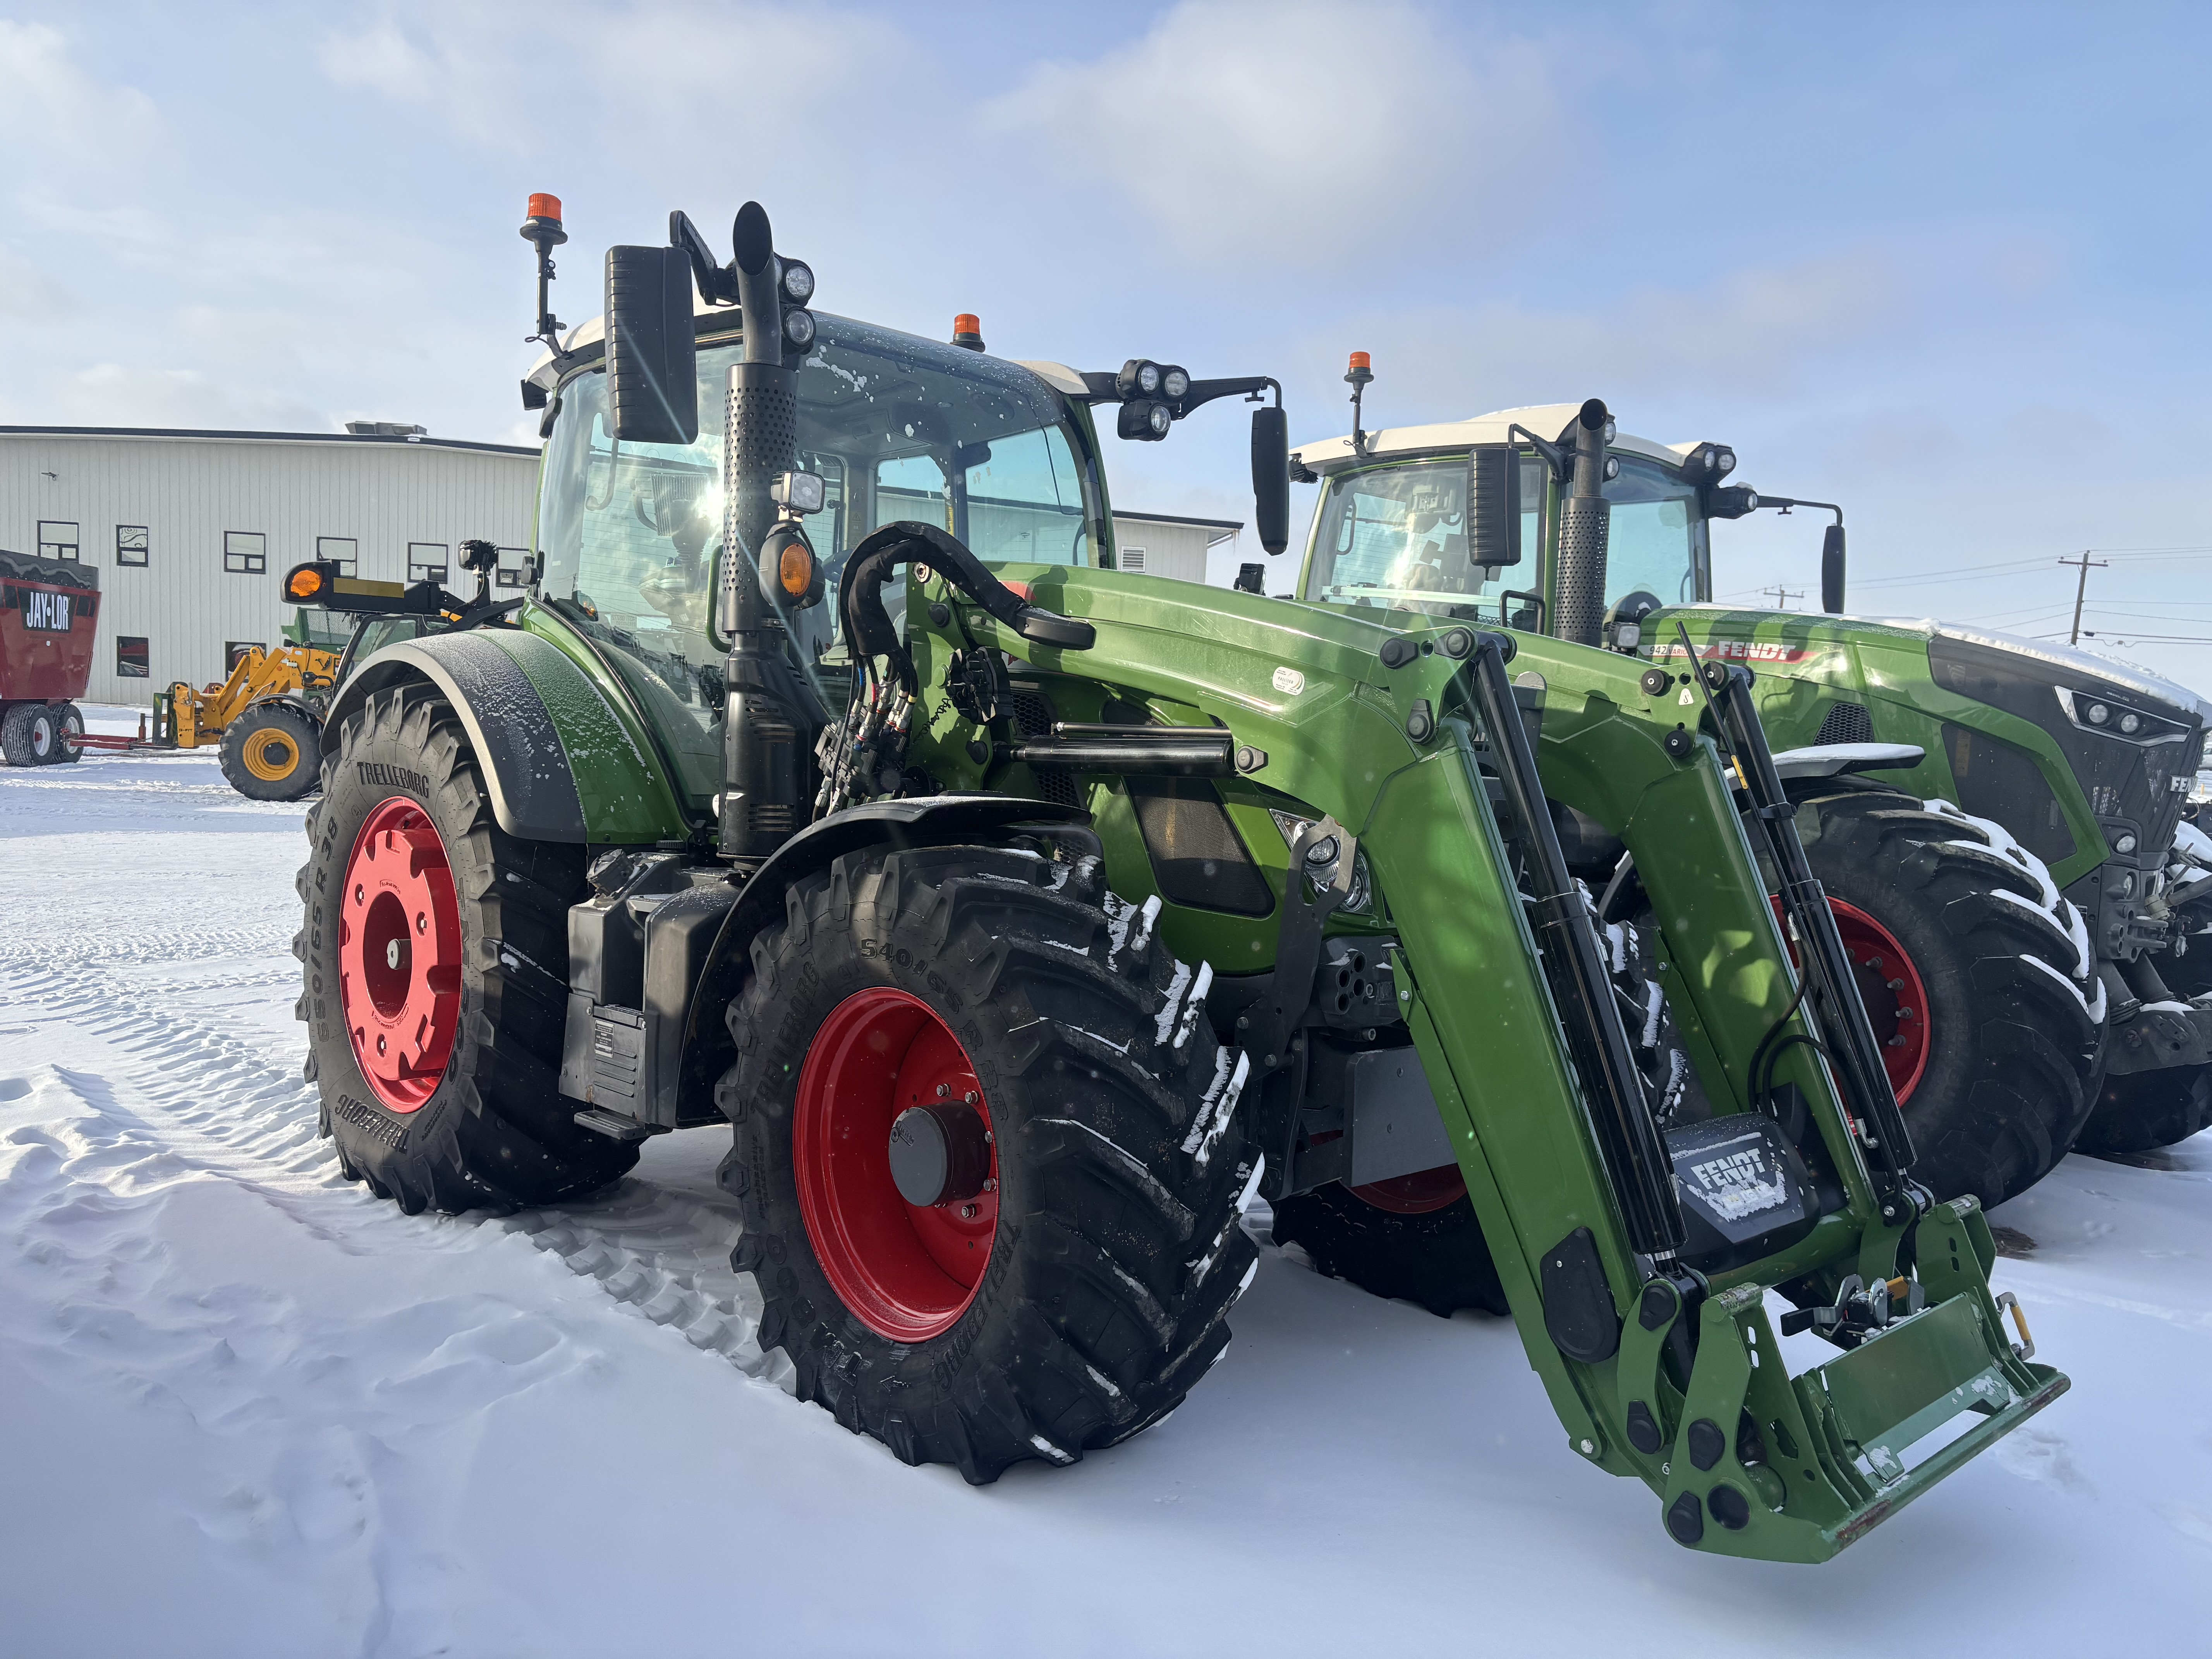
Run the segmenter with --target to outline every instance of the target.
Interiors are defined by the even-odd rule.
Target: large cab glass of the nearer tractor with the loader
[[[794,624],[801,664],[836,655],[836,575],[869,531],[942,524],[991,562],[1091,564],[1097,480],[1066,409],[1026,369],[816,314],[799,367],[799,465],[821,473],[807,538],[830,595]],[[560,389],[538,504],[540,597],[584,630],[706,801],[721,772],[721,650],[708,595],[721,551],[721,407],[741,345],[699,349],[699,438],[617,445],[606,372]],[[896,588],[885,595],[898,602]]]

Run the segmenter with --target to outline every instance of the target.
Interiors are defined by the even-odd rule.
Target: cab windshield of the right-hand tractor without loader
[[[1400,467],[1338,473],[1321,504],[1305,595],[1325,604],[1389,611],[1471,613],[1531,586],[1526,564],[1469,564],[1469,458],[1440,456]],[[1544,502],[1540,462],[1522,462],[1522,546],[1537,544]]]

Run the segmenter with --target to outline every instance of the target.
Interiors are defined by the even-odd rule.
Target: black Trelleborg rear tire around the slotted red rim
[[[584,896],[584,849],[515,841],[493,823],[469,739],[427,686],[376,692],[336,739],[323,799],[307,810],[292,953],[305,978],[294,1009],[307,1024],[305,1075],[321,1088],[338,1168],[407,1214],[553,1203],[617,1181],[637,1146],[577,1126],[577,1102],[560,1093],[568,905]],[[429,1095],[398,1110],[354,1053],[341,920],[363,827],[409,805],[451,869],[458,945],[445,971],[458,978],[458,1018],[434,1084],[425,1066]]]

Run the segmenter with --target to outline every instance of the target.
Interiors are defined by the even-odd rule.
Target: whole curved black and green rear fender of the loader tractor
[[[374,692],[407,681],[436,686],[453,706],[507,834],[593,845],[690,834],[659,761],[551,641],[520,628],[403,639],[347,675],[325,726],[343,730]]]

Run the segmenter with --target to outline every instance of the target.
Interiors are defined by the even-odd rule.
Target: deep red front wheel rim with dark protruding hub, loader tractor
[[[905,991],[854,991],[830,1011],[799,1068],[792,1170],[799,1214],[830,1287],[894,1343],[953,1327],[998,1239],[998,1146],[984,1190],[958,1203],[907,1203],[891,1179],[891,1119],[964,1099],[991,1128],[967,1048]]]

